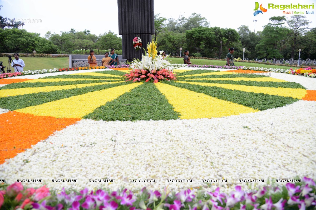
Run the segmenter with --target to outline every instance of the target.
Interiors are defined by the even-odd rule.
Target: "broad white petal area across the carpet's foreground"
[[[316,179],[316,151],[311,149],[316,148],[316,130],[311,126],[315,108],[315,101],[300,100],[281,108],[213,119],[82,120],[7,160],[0,165],[0,177],[8,183],[44,179],[56,190],[86,186],[117,190],[123,185],[132,190],[167,185],[179,190],[201,186],[201,179],[227,179],[228,183],[211,187],[221,186],[226,192],[235,185],[247,189],[238,179]],[[78,179],[78,183],[52,183],[58,178]],[[89,182],[102,178],[115,182]],[[155,183],[129,183],[129,179],[155,179]],[[167,183],[166,179],[192,182]]]

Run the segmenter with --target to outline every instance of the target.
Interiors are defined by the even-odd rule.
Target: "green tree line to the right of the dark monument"
[[[285,22],[289,27],[285,27]],[[179,48],[189,50],[191,56],[223,59],[228,48],[235,48],[234,57],[245,58],[316,59],[316,28],[308,29],[310,22],[303,15],[271,17],[263,31],[256,33],[248,26],[238,31],[230,28],[209,27],[206,18],[193,13],[190,17],[178,19],[155,15],[155,35],[159,50],[167,54],[180,55]],[[183,55],[183,52],[182,52]]]

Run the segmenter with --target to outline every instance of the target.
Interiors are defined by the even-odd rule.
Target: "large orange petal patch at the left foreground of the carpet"
[[[55,131],[80,120],[81,118],[35,116],[16,111],[0,114],[0,164],[47,139]]]

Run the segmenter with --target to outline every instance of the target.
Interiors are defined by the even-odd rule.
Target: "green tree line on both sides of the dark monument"
[[[287,22],[289,27],[284,26]],[[206,18],[193,13],[188,18],[178,19],[155,15],[155,34],[158,50],[167,54],[180,55],[179,48],[189,50],[191,56],[223,59],[228,48],[235,48],[234,57],[243,58],[298,58],[301,49],[302,59],[316,59],[316,28],[308,28],[310,22],[303,15],[270,18],[263,31],[256,33],[248,26],[240,26],[238,31],[231,28],[209,27]],[[9,26],[8,26],[9,27]],[[60,34],[48,31],[44,37],[38,33],[19,29],[19,26],[0,28],[0,52],[71,54],[73,50],[97,49],[103,52],[110,48],[122,50],[122,38],[112,31],[96,36],[89,30],[61,31]],[[132,41],[131,41],[132,42]],[[146,47],[147,43],[143,43]],[[182,52],[183,55],[184,52]]]

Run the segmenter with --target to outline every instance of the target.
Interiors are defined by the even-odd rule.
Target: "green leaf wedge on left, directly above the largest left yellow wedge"
[[[130,84],[131,82],[121,82],[115,84],[95,85],[85,88],[74,88],[68,90],[57,90],[51,92],[40,92],[33,94],[9,96],[0,98],[0,107],[3,109],[16,110],[23,109],[29,106],[44,104],[47,102],[69,98],[76,95],[86,94],[93,91],[113,88],[121,85]]]

